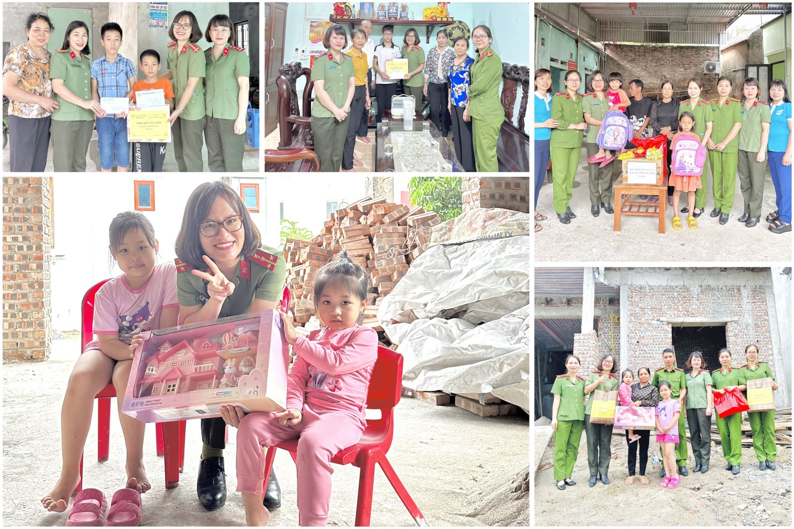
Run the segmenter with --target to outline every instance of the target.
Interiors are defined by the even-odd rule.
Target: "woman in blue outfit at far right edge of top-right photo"
[[[775,186],[777,210],[766,216],[769,231],[784,234],[792,230],[792,103],[788,100],[788,88],[781,79],[769,85],[769,108],[772,122],[769,124],[769,172]]]

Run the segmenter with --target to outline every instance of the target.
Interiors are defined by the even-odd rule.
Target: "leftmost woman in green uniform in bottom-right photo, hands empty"
[[[568,373],[557,375],[551,392],[554,404],[551,411],[551,427],[554,431],[554,481],[557,488],[576,485],[571,479],[579,442],[584,426],[584,376],[578,376],[581,368],[579,357],[569,355],[565,359]]]

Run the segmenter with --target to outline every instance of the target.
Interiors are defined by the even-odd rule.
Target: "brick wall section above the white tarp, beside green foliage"
[[[502,207],[530,212],[530,179],[516,176],[464,176],[461,180],[463,210]]]

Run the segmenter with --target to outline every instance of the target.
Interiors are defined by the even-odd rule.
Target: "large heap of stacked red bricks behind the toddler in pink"
[[[314,275],[344,249],[370,278],[364,325],[380,329],[376,318],[380,299],[405,276],[430,240],[430,228],[439,222],[437,214],[422,207],[411,209],[366,197],[332,213],[314,239],[287,239],[284,258],[287,285],[295,299],[295,322],[303,325],[314,314]]]

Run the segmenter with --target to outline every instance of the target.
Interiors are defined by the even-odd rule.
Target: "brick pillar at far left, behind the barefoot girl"
[[[2,199],[3,360],[50,352],[52,178],[4,178]]]

